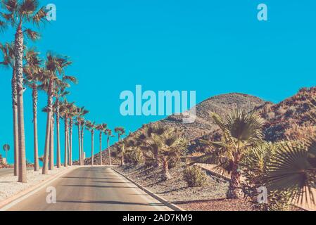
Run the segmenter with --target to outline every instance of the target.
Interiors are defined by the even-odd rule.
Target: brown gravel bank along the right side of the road
[[[228,183],[208,176],[206,186],[189,188],[183,179],[184,166],[170,169],[172,179],[162,181],[161,168],[125,165],[117,168],[130,179],[175,205],[191,211],[251,211],[251,203],[225,199]]]

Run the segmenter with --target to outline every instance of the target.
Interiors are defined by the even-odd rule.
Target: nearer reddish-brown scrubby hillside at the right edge
[[[265,139],[282,141],[302,139],[316,134],[316,87],[301,89],[279,104],[266,103],[256,108],[267,120]]]

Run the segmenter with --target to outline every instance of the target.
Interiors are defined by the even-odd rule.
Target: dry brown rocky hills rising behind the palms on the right
[[[184,124],[183,117],[175,115],[158,122],[178,129],[182,136],[190,141],[191,152],[205,148],[201,139],[213,141],[220,139],[220,131],[210,118],[210,112],[225,117],[236,108],[244,108],[249,112],[255,110],[265,118],[267,122],[264,132],[267,141],[301,139],[310,134],[316,134],[316,121],[312,120],[312,117],[316,117],[316,108],[311,106],[311,103],[316,105],[314,98],[316,98],[316,87],[301,89],[295,96],[278,104],[265,102],[246,94],[223,94],[208,98],[196,105],[196,121],[192,124]],[[115,145],[113,152],[115,152]],[[106,151],[103,155],[103,161],[106,163],[108,161]],[[99,155],[95,156],[94,161],[96,164],[99,163]],[[86,162],[91,163],[91,159],[87,159]],[[115,162],[118,163],[118,161]]]

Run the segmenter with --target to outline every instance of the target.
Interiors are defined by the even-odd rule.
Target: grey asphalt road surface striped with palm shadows
[[[56,188],[56,204],[46,190]],[[170,211],[109,167],[81,167],[61,176],[9,211]]]

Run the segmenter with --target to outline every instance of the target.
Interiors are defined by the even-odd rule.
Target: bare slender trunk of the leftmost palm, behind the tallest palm
[[[14,138],[14,176],[18,176],[18,89],[15,75],[15,68],[13,68],[13,75],[11,80],[12,85],[12,108],[13,108],[13,138]]]

